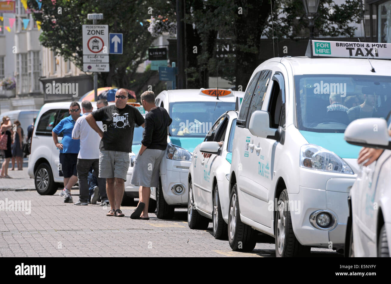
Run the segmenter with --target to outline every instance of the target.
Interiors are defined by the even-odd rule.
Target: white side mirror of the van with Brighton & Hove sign
[[[251,114],[248,129],[251,134],[261,138],[278,137],[277,129],[270,127],[270,113],[268,111],[254,111]]]

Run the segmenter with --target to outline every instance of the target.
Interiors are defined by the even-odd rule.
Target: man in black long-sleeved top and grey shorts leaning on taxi
[[[167,148],[167,131],[172,119],[163,107],[155,105],[155,95],[152,91],[142,93],[141,103],[148,113],[145,115],[142,145],[136,157],[131,179],[131,184],[140,186],[141,193],[140,202],[130,218],[148,220],[151,187],[159,187],[159,167]]]

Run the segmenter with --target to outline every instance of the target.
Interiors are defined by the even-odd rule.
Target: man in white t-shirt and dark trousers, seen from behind
[[[88,190],[88,171],[91,166],[94,170],[94,174],[97,176],[99,173],[99,143],[100,137],[95,130],[93,130],[86,117],[93,110],[91,102],[85,100],[81,103],[83,109],[83,116],[76,120],[74,129],[72,130],[72,139],[80,139],[80,151],[77,156],[77,177],[79,179],[79,201],[75,205],[88,205],[88,199],[90,198]],[[102,123],[98,125],[103,130]],[[106,193],[106,180],[97,177],[99,194],[103,202],[108,202]]]

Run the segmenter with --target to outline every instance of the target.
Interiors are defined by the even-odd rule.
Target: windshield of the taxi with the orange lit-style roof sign
[[[176,102],[170,104],[169,134],[174,137],[205,137],[213,123],[235,102]]]

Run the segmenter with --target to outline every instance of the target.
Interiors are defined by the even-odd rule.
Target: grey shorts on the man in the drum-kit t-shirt
[[[126,181],[129,164],[130,158],[127,152],[100,150],[99,177],[105,179],[118,177]]]

